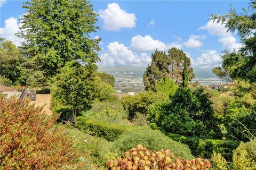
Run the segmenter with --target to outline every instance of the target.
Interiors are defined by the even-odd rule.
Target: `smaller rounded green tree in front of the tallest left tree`
[[[95,96],[93,70],[71,61],[56,76],[53,96],[71,109],[75,117],[79,111],[89,109]]]

